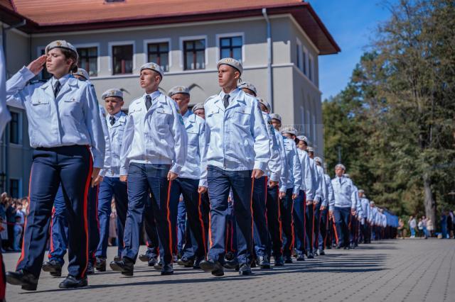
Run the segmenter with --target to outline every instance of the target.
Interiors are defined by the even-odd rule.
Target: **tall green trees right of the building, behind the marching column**
[[[346,89],[323,103],[326,162],[333,171],[341,147],[370,199],[435,221],[455,207],[455,2],[390,11]]]

